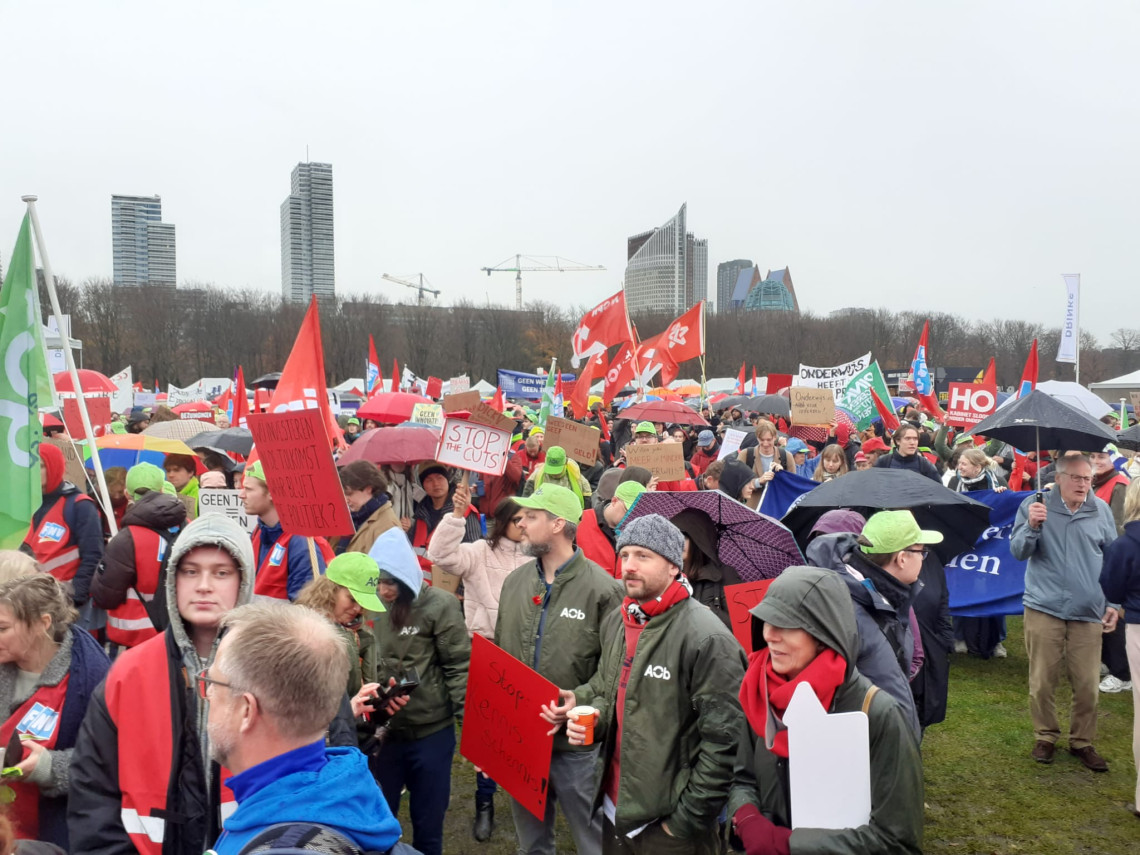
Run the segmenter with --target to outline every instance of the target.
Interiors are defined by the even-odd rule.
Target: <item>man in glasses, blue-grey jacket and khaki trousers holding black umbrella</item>
[[[1101,635],[1113,632],[1119,617],[1099,581],[1105,548],[1114,539],[1113,512],[1092,494],[1092,464],[1080,453],[1062,455],[1056,488],[1029,496],[1017,511],[1010,552],[1026,562],[1025,649],[1037,763],[1053,762],[1061,735],[1054,695],[1064,668],[1073,687],[1069,754],[1093,772],[1108,771],[1092,742]]]

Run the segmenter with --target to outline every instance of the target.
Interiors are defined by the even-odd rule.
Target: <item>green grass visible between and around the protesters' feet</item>
[[[1096,855],[1140,854],[1140,820],[1125,809],[1132,800],[1132,697],[1100,695],[1097,750],[1108,760],[1107,774],[1085,769],[1065,750],[1052,766],[1029,758],[1025,645],[1020,618],[1009,620],[1009,659],[983,661],[955,656],[951,663],[950,712],[927,731],[926,852],[930,855]],[[1059,695],[1061,730],[1068,695]],[[456,756],[451,808],[443,852],[513,855],[514,828],[508,799],[496,797],[495,836],[486,844],[471,838],[474,773]],[[400,822],[410,842],[407,800]],[[573,841],[559,817],[559,852]]]

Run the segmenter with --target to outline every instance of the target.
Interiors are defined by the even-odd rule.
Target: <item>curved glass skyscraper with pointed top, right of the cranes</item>
[[[650,231],[626,241],[626,306],[630,315],[679,315],[708,294],[708,241],[686,229],[687,204]]]

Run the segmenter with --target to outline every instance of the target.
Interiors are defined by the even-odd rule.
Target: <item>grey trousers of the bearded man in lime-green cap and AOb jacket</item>
[[[551,758],[549,791],[546,795],[546,817],[538,820],[530,811],[511,799],[511,815],[519,837],[520,855],[554,855],[554,803],[562,807],[579,855],[601,855],[602,812],[594,811],[593,751],[555,751]]]

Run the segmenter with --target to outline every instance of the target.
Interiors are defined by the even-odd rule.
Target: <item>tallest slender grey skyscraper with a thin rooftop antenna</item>
[[[335,291],[333,165],[299,163],[291,184],[282,203],[282,296],[303,303]]]

